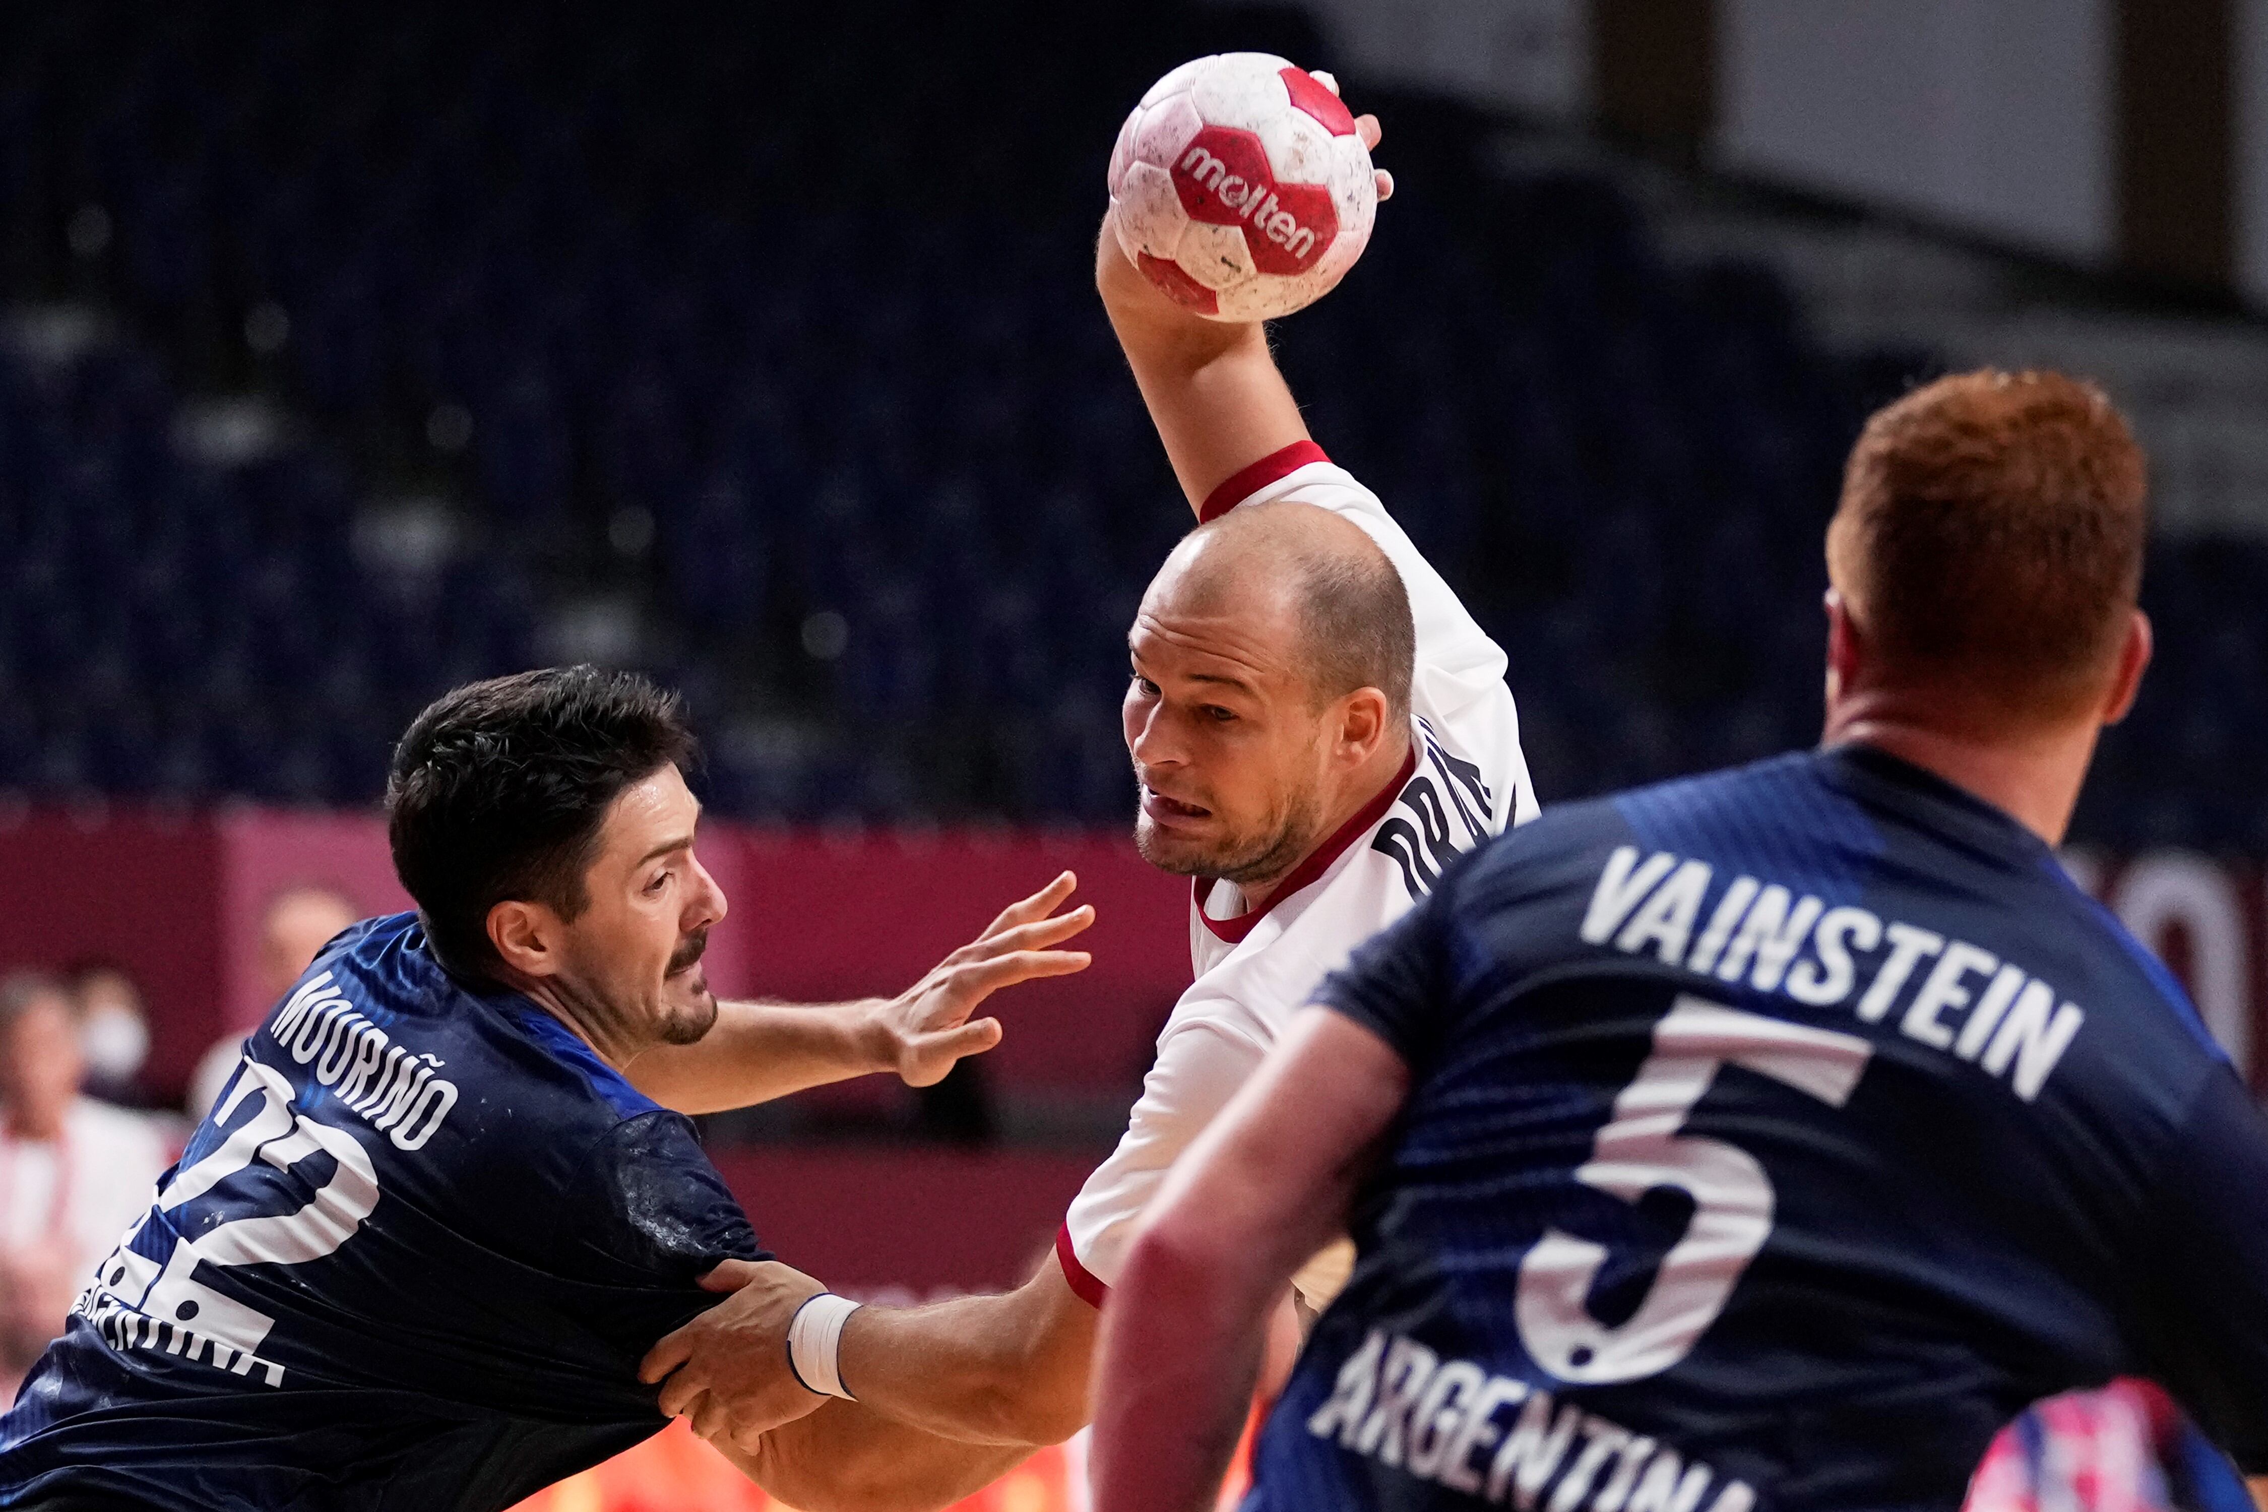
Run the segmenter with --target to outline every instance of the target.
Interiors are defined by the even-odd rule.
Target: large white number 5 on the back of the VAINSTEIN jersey
[[[1513,1303],[1529,1356],[1569,1383],[1637,1381],[1683,1360],[1771,1235],[1774,1206],[1771,1177],[1755,1156],[1681,1133],[1685,1118],[1719,1065],[1744,1065],[1839,1108],[1871,1054],[1873,1045],[1851,1034],[1681,995],[1653,1025],[1653,1054],[1615,1097],[1574,1179],[1628,1204],[1658,1186],[1681,1188],[1694,1199],[1692,1222],[1662,1256],[1637,1313],[1613,1328],[1585,1306],[1606,1249],[1545,1229],[1520,1263]]]

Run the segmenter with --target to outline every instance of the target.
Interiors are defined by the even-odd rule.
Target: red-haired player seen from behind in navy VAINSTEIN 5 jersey
[[[1100,1512],[1211,1505],[1340,1224],[1247,1510],[1950,1512],[2118,1374],[2268,1471],[2268,1122],[2050,850],[2150,655],[2141,551],[2100,392],[1876,415],[1823,746],[1547,814],[1320,988],[1127,1263]]]

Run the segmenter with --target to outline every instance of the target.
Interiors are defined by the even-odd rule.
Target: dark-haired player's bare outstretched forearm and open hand
[[[1077,877],[1064,873],[1009,904],[975,941],[896,997],[719,1002],[717,1027],[699,1043],[649,1050],[626,1074],[646,1097],[678,1113],[746,1108],[869,1072],[930,1086],[962,1056],[1000,1043],[1000,1020],[968,1020],[991,993],[1086,968],[1086,952],[1055,950],[1095,918],[1091,907],[1055,914],[1075,886]]]

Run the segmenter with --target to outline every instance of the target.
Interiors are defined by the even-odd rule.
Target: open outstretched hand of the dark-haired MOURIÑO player
[[[968,1016],[1002,986],[1086,970],[1084,950],[1055,950],[1095,923],[1086,904],[1057,914],[1080,880],[1059,875],[1012,902],[978,938],[939,961],[921,982],[878,1004],[889,1063],[907,1086],[941,1081],[955,1061],[1000,1043],[1000,1020]]]

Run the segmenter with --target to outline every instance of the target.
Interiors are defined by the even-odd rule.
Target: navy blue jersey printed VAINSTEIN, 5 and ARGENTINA
[[[2127,1374],[2268,1471],[2268,1120],[1914,766],[1547,814],[1320,1000],[1413,1081],[1250,1510],[1950,1512],[2025,1403]]]

